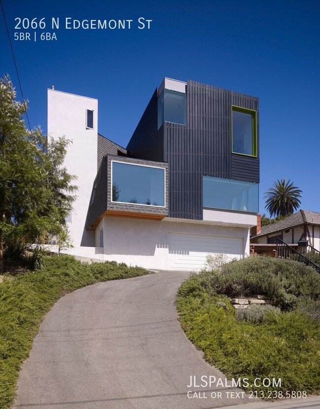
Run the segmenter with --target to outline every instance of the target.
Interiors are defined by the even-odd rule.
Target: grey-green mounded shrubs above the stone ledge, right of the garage
[[[203,286],[210,286],[212,294],[230,297],[267,296],[273,305],[290,310],[298,297],[319,299],[320,274],[303,263],[278,258],[253,256],[232,261],[221,272],[200,273]]]

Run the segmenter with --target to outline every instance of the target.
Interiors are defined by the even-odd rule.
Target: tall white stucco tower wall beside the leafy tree
[[[94,111],[94,129],[86,129],[86,109]],[[48,90],[48,135],[72,140],[64,163],[79,188],[68,223],[74,246],[95,246],[95,232],[84,227],[97,172],[97,120],[97,99]]]

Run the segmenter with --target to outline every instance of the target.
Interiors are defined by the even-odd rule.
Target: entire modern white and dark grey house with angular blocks
[[[165,78],[126,149],[97,132],[97,100],[48,90],[48,134],[72,139],[68,252],[154,269],[249,254],[259,182],[258,99]]]

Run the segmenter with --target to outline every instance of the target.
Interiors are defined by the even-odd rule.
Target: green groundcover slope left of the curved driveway
[[[10,408],[23,361],[44,315],[63,295],[89,284],[148,274],[116,262],[82,264],[72,256],[45,257],[41,270],[5,275],[0,283],[0,408]]]

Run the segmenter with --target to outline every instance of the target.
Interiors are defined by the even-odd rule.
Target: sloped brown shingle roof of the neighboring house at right
[[[299,212],[295,213],[294,215],[288,216],[284,220],[280,220],[276,223],[261,227],[260,233],[252,237],[260,237],[266,234],[276,233],[278,231],[287,230],[292,227],[301,226],[303,224],[313,224],[320,226],[320,213],[309,212],[308,210],[299,210]]]

